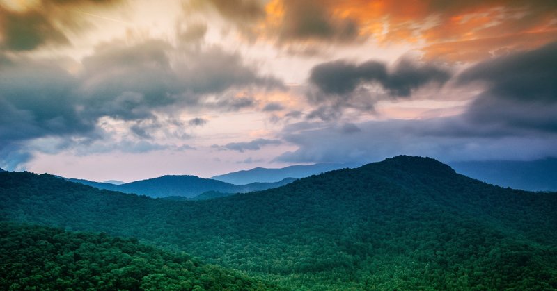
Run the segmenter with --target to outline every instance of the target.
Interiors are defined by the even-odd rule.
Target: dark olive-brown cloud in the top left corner
[[[31,51],[43,44],[69,44],[68,31],[86,27],[74,8],[96,8],[119,3],[120,0],[42,0],[22,12],[0,6],[0,47],[10,51]]]

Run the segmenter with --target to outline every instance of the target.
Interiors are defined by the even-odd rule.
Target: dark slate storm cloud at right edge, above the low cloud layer
[[[467,69],[461,85],[485,83],[464,117],[478,126],[557,133],[557,43]]]

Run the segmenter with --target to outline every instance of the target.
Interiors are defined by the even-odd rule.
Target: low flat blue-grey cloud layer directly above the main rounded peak
[[[282,138],[298,149],[274,160],[285,163],[369,163],[408,154],[453,160],[531,160],[556,156],[557,135],[513,132],[480,135],[470,124],[449,117],[425,120],[386,120],[356,124],[361,129],[343,133],[334,124],[317,124],[313,129],[285,128]],[[472,134],[471,134],[472,133]]]

